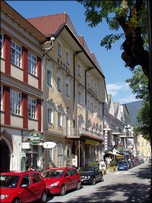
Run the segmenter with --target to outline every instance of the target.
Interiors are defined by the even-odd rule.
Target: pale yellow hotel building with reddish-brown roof
[[[48,39],[43,56],[45,168],[82,166],[101,158],[105,80],[66,13],[29,19]],[[56,24],[54,24],[56,22]]]

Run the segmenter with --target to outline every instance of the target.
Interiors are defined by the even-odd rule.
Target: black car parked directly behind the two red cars
[[[99,181],[104,181],[102,171],[98,166],[81,167],[79,172],[81,175],[82,184],[95,185]]]

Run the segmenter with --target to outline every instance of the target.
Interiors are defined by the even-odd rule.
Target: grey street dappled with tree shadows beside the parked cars
[[[145,202],[150,190],[151,164],[145,162],[128,171],[108,172],[104,182],[85,185],[48,202]]]

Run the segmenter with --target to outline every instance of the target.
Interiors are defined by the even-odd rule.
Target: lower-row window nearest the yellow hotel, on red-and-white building
[[[32,97],[28,97],[28,117],[29,118],[36,118],[36,106],[37,102],[36,99]]]

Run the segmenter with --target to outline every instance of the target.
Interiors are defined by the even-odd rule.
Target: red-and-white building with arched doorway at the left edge
[[[1,2],[1,168],[37,165],[41,146],[22,142],[41,135],[42,50],[45,36],[7,3]]]

